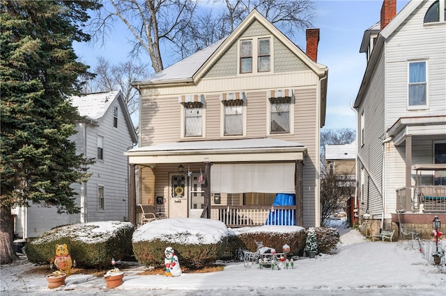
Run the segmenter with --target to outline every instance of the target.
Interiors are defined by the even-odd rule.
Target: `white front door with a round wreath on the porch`
[[[187,175],[170,175],[169,218],[187,218]]]

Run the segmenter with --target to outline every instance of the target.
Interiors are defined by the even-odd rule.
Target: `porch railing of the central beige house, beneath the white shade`
[[[210,219],[227,227],[295,225],[295,206],[211,206]]]

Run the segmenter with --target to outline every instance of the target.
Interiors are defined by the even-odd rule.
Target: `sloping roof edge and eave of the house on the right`
[[[375,47],[373,51],[371,51],[370,60],[365,69],[360,90],[357,92],[353,108],[358,108],[360,106],[362,96],[370,83],[371,74],[373,74],[376,63],[379,61],[379,54],[384,47],[385,40],[387,40],[387,38],[389,38],[422,3],[424,3],[424,1],[411,0],[406,4],[406,6],[403,7],[403,9],[400,10],[399,13],[397,13],[397,15],[395,15],[389,24],[387,24],[387,26],[385,26],[385,28],[378,33],[378,38],[376,38]]]

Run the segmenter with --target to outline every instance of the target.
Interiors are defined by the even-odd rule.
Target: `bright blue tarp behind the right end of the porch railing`
[[[272,207],[274,206],[295,206],[295,195],[277,193]],[[265,225],[295,225],[295,210],[270,211]]]

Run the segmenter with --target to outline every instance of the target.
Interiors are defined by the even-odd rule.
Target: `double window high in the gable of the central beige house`
[[[271,38],[240,41],[240,74],[270,72],[272,67]]]

